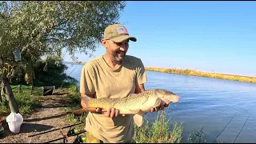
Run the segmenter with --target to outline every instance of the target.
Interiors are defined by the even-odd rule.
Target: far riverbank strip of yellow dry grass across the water
[[[255,77],[242,76],[242,75],[219,74],[219,73],[203,72],[199,70],[177,69],[177,68],[168,69],[168,68],[158,68],[158,67],[146,67],[146,70],[157,71],[162,73],[170,73],[170,74],[183,74],[183,75],[192,75],[192,76],[206,77],[206,78],[219,78],[219,79],[226,79],[231,81],[256,83]]]

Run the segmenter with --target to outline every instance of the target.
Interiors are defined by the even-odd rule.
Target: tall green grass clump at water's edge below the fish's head
[[[179,143],[182,138],[182,123],[175,122],[170,130],[166,115],[158,112],[157,119],[150,125],[144,118],[142,127],[134,125],[136,143]]]

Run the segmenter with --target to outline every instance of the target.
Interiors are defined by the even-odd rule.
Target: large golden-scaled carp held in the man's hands
[[[82,96],[86,107],[101,108],[106,111],[115,108],[120,114],[134,114],[134,123],[142,126],[143,114],[146,114],[153,107],[160,106],[162,102],[178,102],[179,96],[169,90],[154,89],[145,90],[142,93],[130,94],[126,98],[90,98]]]

